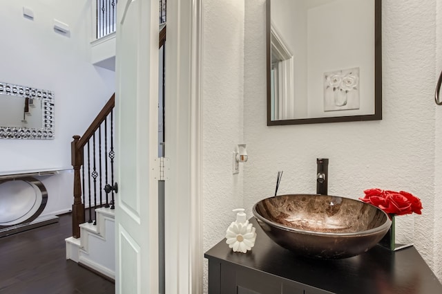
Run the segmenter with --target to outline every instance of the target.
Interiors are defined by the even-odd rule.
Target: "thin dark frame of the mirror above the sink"
[[[326,118],[299,118],[271,120],[271,15],[270,2],[266,1],[266,55],[267,55],[267,126],[304,125],[325,122],[354,122],[382,120],[382,37],[381,0],[374,0],[374,113],[361,116],[332,116]]]

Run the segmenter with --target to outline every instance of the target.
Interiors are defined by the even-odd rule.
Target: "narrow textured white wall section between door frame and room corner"
[[[232,152],[242,143],[244,3],[203,1],[202,102],[204,251],[224,238],[242,208],[242,170],[232,174]],[[242,167],[240,167],[242,169]],[[207,285],[207,269],[204,270]]]

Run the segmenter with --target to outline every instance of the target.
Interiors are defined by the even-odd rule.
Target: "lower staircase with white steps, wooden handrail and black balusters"
[[[66,259],[115,281],[113,108],[108,100],[84,132],[71,143],[74,169],[73,235],[65,239]]]

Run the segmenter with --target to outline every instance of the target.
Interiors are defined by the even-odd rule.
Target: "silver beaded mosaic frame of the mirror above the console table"
[[[12,98],[41,100],[41,128],[3,127],[0,126],[1,139],[53,139],[54,128],[54,93],[48,90],[0,82],[0,94]]]

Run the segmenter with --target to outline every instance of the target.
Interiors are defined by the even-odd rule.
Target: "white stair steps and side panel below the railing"
[[[97,208],[96,224],[81,223],[80,237],[66,241],[66,259],[115,281],[115,210]]]

